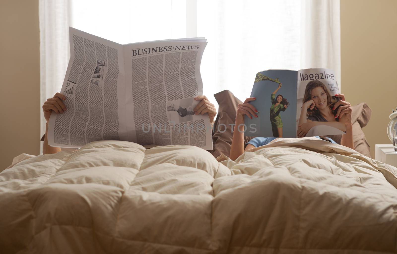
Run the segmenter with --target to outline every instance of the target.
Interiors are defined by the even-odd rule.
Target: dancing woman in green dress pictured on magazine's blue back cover
[[[283,137],[283,121],[281,120],[280,112],[285,111],[289,105],[287,99],[283,95],[276,96],[277,91],[281,88],[281,83],[278,88],[270,96],[272,106],[270,107],[270,122],[272,123],[272,132],[274,138]]]

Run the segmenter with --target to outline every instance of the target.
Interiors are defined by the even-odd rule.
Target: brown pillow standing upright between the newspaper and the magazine
[[[214,97],[219,104],[219,108],[214,123],[214,134],[212,135],[213,150],[210,152],[215,158],[222,154],[229,157],[231,140],[233,139],[232,126],[229,124],[235,123],[237,105],[243,102],[237,99],[229,90],[214,94]],[[254,137],[244,137],[245,143],[252,138]]]

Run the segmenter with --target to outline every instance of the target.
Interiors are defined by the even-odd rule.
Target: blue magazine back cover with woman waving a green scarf
[[[258,117],[244,117],[245,136],[295,138],[297,71],[267,70],[256,74],[250,103]]]

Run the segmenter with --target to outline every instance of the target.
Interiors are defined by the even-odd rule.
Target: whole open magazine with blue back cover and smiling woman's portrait
[[[330,69],[267,70],[256,74],[250,103],[258,117],[245,117],[245,136],[298,138],[345,134],[335,118],[339,100],[335,73]],[[324,112],[332,118],[324,118]],[[330,114],[328,114],[330,115]]]

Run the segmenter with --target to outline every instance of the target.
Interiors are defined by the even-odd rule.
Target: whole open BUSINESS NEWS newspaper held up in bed
[[[67,110],[50,116],[50,146],[123,140],[212,149],[208,114],[193,111],[205,38],[121,45],[70,27],[69,40]]]

